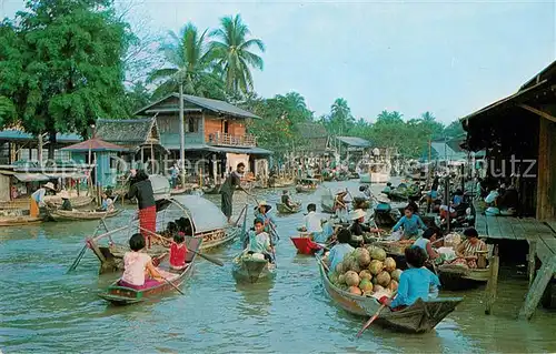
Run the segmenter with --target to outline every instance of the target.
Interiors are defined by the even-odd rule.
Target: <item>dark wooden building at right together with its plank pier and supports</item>
[[[540,301],[550,306],[556,299],[553,280],[556,274],[556,61],[516,93],[463,118],[461,123],[467,131],[465,148],[485,150],[487,178],[517,186],[518,218],[478,213],[475,227],[490,243],[500,246],[502,255],[523,254],[524,242],[527,242],[529,291],[519,317],[530,318]],[[487,295],[486,313],[490,313],[496,293],[497,266],[494,269],[487,286],[490,295]]]

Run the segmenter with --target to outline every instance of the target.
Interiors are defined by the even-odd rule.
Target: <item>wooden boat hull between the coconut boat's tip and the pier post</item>
[[[443,289],[460,291],[475,289],[488,282],[490,269],[468,269],[457,264],[443,264],[436,267]]]

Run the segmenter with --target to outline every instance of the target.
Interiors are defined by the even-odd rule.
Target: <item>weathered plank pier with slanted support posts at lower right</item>
[[[475,227],[479,235],[494,240],[495,243],[496,240],[515,240],[527,241],[529,244],[529,291],[518,315],[519,318],[529,320],[556,273],[556,222],[542,222],[533,218],[486,216],[477,213]],[[537,257],[542,262],[538,271],[536,271]],[[496,259],[492,264],[498,264],[497,261]],[[497,273],[497,270],[493,270],[495,276],[489,280],[489,283],[494,283],[494,289],[487,286],[487,300],[492,299],[487,301],[487,314],[490,313],[494,303]]]

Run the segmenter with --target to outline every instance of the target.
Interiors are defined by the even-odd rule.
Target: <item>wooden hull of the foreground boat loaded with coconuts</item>
[[[337,287],[329,281],[321,262],[318,264],[325,292],[339,307],[358,316],[375,315],[380,307],[380,303],[375,297],[355,295]],[[411,306],[400,311],[385,307],[375,323],[400,332],[428,332],[450,314],[461,301],[463,297],[439,297],[427,301],[418,300]]]

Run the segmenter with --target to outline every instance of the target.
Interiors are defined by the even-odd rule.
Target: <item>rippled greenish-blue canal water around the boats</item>
[[[356,181],[325,183],[334,190]],[[379,186],[375,192],[378,192]],[[320,191],[296,199],[319,204]],[[259,191],[272,205],[281,190]],[[208,195],[219,204],[219,195]],[[235,195],[235,213],[246,202]],[[109,226],[125,224],[128,209]],[[276,212],[276,210],[275,210]],[[252,221],[252,206],[249,212]],[[556,317],[538,309],[529,323],[515,320],[526,293],[524,276],[502,270],[494,314],[484,315],[484,290],[444,293],[465,301],[435,331],[393,333],[337,309],[324,293],[315,259],[296,254],[289,236],[302,214],[277,216],[278,274],[272,283],[236,285],[231,260],[239,243],[212,252],[224,267],[200,259],[178,293],[116,307],[97,296],[118,275],[98,275],[90,251],[66,274],[96,222],[0,229],[0,350],[3,353],[525,353],[556,351]]]

